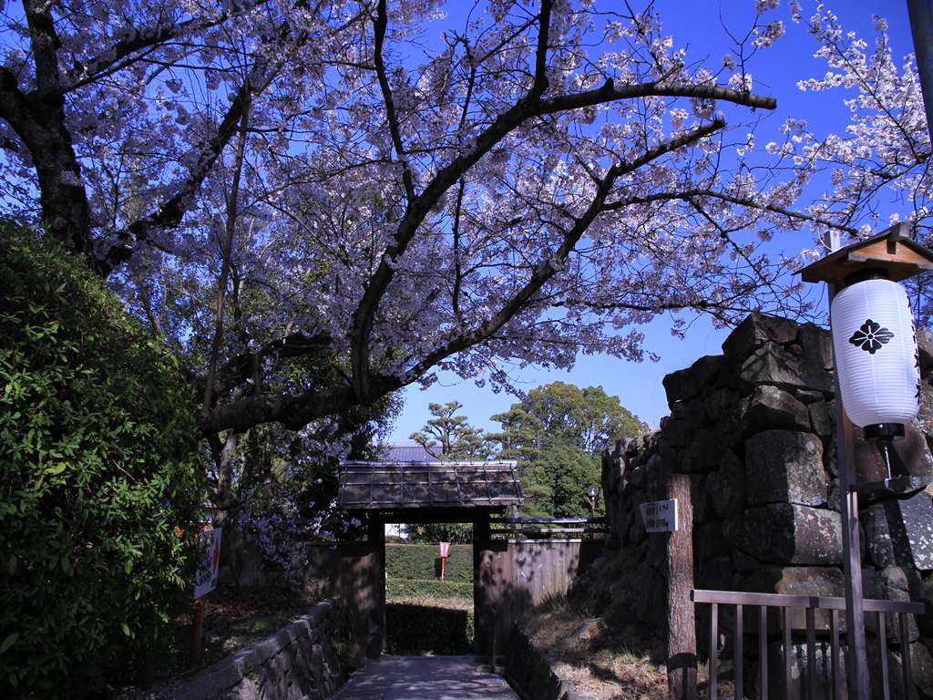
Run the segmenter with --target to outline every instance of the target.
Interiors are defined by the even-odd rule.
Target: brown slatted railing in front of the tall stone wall
[[[806,613],[806,645],[807,645],[807,687],[808,696],[813,698],[818,693],[818,683],[816,679],[816,611],[829,611],[829,649],[831,665],[831,683],[832,698],[842,700],[842,647],[840,644],[840,611],[845,610],[845,598],[829,597],[823,595],[780,595],[770,593],[741,593],[734,591],[703,591],[694,590],[691,597],[693,602],[708,604],[711,607],[710,630],[709,630],[709,682],[708,695],[709,700],[717,700],[717,671],[718,671],[718,608],[720,605],[729,605],[735,607],[735,624],[733,640],[733,682],[735,686],[735,697],[742,698],[744,692],[744,669],[743,669],[743,640],[744,630],[744,608],[757,607],[759,609],[759,680],[761,687],[761,699],[768,698],[768,609],[781,609],[782,611],[782,632],[783,632],[783,662],[784,662],[784,695],[789,697],[791,693],[793,665],[793,654],[791,651],[791,631],[790,614],[793,609],[802,609]],[[888,678],[888,645],[886,635],[886,617],[894,615],[898,618],[900,642],[901,642],[901,677],[904,696],[911,697],[912,688],[912,669],[911,669],[911,651],[910,651],[910,626],[908,615],[922,615],[924,606],[922,603],[913,603],[911,601],[900,600],[871,600],[863,601],[866,613],[874,613],[878,616],[878,649],[880,655],[881,668],[881,686],[884,700],[889,700],[889,678]],[[803,678],[801,676],[801,685]],[[801,689],[802,690],[802,689]],[[801,693],[802,695],[802,693]]]

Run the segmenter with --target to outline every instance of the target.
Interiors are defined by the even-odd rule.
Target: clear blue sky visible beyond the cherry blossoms
[[[633,7],[645,3],[634,2]],[[597,8],[601,2],[597,0]],[[616,3],[609,3],[614,7]],[[842,105],[843,91],[802,92],[797,81],[806,77],[822,76],[826,64],[813,58],[815,40],[807,34],[805,21],[815,7],[814,2],[803,2],[801,24],[787,21],[787,0],[781,9],[769,13],[773,19],[782,19],[787,25],[787,34],[772,49],[755,57],[751,72],[756,80],[756,91],[773,95],[778,107],[759,130],[757,141],[765,143],[777,132],[788,117],[806,119],[816,134],[841,133],[846,125],[846,110]],[[721,58],[729,46],[728,37],[720,23],[723,21],[735,31],[744,33],[754,17],[754,0],[723,0],[721,3],[700,0],[658,0],[655,7],[661,13],[665,34],[673,35],[675,46],[686,44],[691,61],[708,59],[705,63],[713,70],[721,64]],[[880,15],[888,21],[888,35],[895,57],[912,52],[910,25],[904,2],[880,2],[878,0],[829,2],[840,17],[843,27],[873,42],[872,15]],[[765,19],[772,18],[766,16]],[[427,32],[430,32],[427,28]],[[899,61],[898,61],[899,63]],[[809,234],[787,234],[782,240],[773,242],[775,250],[787,253],[799,252],[812,245]],[[661,416],[668,413],[667,399],[661,385],[665,374],[689,366],[698,357],[716,355],[728,330],[712,328],[705,318],[698,318],[690,327],[687,337],[679,340],[671,335],[671,319],[661,316],[641,329],[645,332],[645,348],[661,359],[642,363],[626,362],[615,357],[581,356],[572,371],[543,371],[527,368],[510,372],[513,382],[523,390],[557,380],[580,386],[602,385],[606,393],[620,397],[624,406],[637,414],[651,427],[656,427]],[[418,385],[404,390],[405,407],[398,416],[390,441],[408,442],[409,435],[420,429],[429,413],[431,401],[443,403],[457,399],[464,404],[462,413],[469,417],[472,425],[486,430],[497,429],[489,416],[508,409],[515,399],[507,394],[494,394],[488,387],[480,388],[472,380],[462,380],[453,374],[441,374],[439,382],[422,390]]]

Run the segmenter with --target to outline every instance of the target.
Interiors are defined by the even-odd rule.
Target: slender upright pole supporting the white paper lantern
[[[829,303],[836,295],[834,285],[829,287]],[[832,318],[829,319],[832,325]],[[868,651],[865,645],[865,609],[862,604],[861,538],[858,533],[858,495],[850,487],[855,473],[855,439],[852,421],[842,406],[842,387],[839,383],[839,362],[835,343],[832,351],[836,384],[836,461],[839,469],[840,507],[842,509],[842,568],[845,573],[846,646],[849,677],[849,697],[869,700],[870,682]]]

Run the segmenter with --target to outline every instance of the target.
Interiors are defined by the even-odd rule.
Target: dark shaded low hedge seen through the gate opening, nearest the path
[[[473,611],[410,603],[385,606],[386,652],[416,655],[473,653]]]

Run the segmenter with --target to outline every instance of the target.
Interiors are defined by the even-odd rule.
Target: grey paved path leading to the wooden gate
[[[383,656],[330,700],[519,700],[506,679],[473,656]]]

